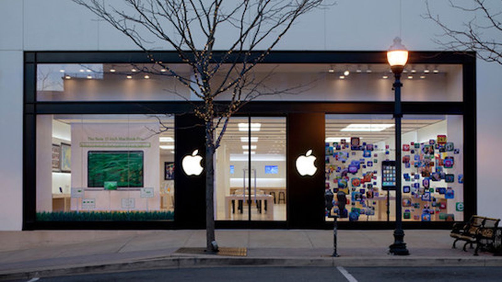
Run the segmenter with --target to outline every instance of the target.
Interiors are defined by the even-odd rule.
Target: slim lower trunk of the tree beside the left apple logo
[[[217,245],[213,245],[214,236],[214,168],[213,168],[213,147],[206,144],[206,251],[218,251]],[[216,247],[215,247],[216,246]]]

